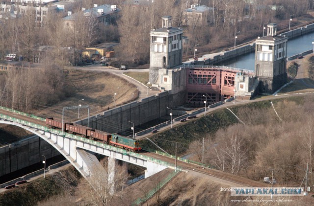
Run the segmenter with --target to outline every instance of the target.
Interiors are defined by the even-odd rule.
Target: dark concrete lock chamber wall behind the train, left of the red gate
[[[168,91],[160,92],[155,96],[149,96],[141,101],[134,101],[103,114],[89,117],[89,126],[107,133],[119,133],[134,127],[158,119],[167,114],[167,107],[173,108],[184,104],[185,91],[170,94]],[[77,122],[87,126],[87,119]]]

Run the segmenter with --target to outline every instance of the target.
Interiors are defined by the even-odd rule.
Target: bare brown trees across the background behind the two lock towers
[[[238,42],[255,39],[261,36],[264,23],[278,23],[278,29],[287,28],[291,15],[293,18],[308,15],[313,10],[313,0],[158,0],[136,8],[122,4],[124,0],[86,0],[76,2],[73,12],[77,17],[74,26],[67,27],[62,22],[61,14],[47,16],[43,26],[36,23],[35,11],[17,14],[12,18],[2,14],[0,19],[0,56],[17,53],[33,61],[41,57],[39,46],[52,46],[50,56],[61,65],[69,64],[69,55],[63,47],[72,47],[75,59],[79,64],[79,50],[102,42],[115,41],[120,61],[133,64],[149,63],[150,31],[161,27],[161,17],[171,15],[173,26],[184,28],[184,36],[189,44],[184,45],[184,55],[194,52],[198,45],[201,51],[212,51],[218,47],[232,46],[235,33],[240,31]],[[128,1],[127,1],[128,2]],[[182,25],[183,10],[191,4],[206,5],[211,9],[206,14],[206,21],[191,20]],[[83,15],[82,7],[92,8],[94,4],[118,4],[121,11],[110,26],[99,23],[94,15]],[[293,21],[291,22],[293,25]]]

